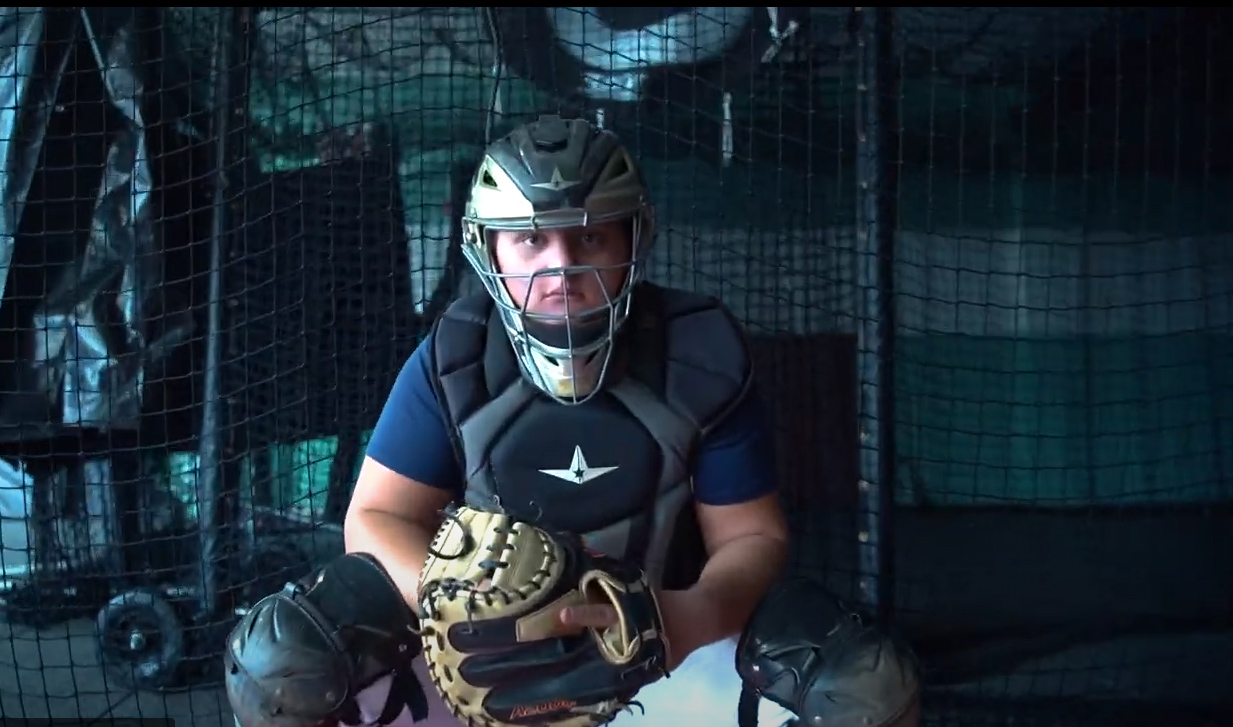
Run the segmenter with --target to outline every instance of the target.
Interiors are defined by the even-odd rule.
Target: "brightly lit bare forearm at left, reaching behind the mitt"
[[[433,531],[419,522],[388,513],[356,510],[348,513],[343,532],[346,552],[375,556],[390,572],[402,598],[414,606],[418,600],[419,572],[428,559]]]

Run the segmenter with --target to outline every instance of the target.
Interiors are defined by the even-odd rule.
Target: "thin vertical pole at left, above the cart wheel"
[[[202,366],[201,431],[197,440],[197,513],[201,527],[201,603],[202,619],[218,615],[219,591],[227,588],[223,561],[236,557],[228,537],[239,525],[238,482],[234,472],[236,450],[231,431],[231,400],[223,387],[227,355],[226,296],[223,266],[232,234],[231,200],[236,198],[242,179],[232,179],[243,169],[240,143],[248,113],[248,30],[250,10],[219,7],[213,33],[213,207],[210,225],[210,269],[206,282],[206,350]],[[243,174],[240,174],[243,177]],[[237,184],[240,182],[240,184]]]

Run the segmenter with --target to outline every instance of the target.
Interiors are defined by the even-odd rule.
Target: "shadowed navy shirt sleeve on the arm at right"
[[[702,442],[693,484],[704,505],[739,505],[776,492],[774,439],[757,392]]]

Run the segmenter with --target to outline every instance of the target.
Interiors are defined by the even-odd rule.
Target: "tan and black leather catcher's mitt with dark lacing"
[[[433,683],[467,725],[592,727],[666,675],[658,604],[640,568],[506,515],[446,514],[419,585]],[[607,603],[619,625],[561,635],[561,609]]]

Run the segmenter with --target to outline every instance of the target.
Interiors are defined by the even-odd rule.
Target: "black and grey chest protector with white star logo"
[[[693,583],[705,562],[694,458],[752,378],[745,336],[718,301],[642,283],[604,389],[578,405],[525,381],[487,294],[455,302],[433,339],[469,505],[578,534],[640,562],[652,583]]]

